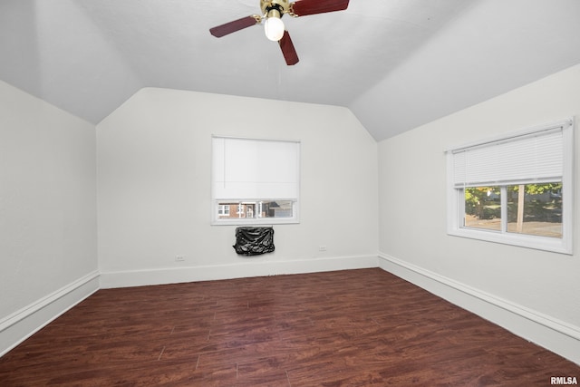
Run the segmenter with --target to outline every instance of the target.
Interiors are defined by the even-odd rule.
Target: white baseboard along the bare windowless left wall
[[[99,272],[94,271],[0,319],[0,357],[97,290]]]

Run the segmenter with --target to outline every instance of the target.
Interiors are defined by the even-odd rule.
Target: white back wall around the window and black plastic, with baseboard
[[[212,134],[302,141],[301,222],[274,253],[237,256],[235,227],[210,226]],[[97,149],[103,287],[376,266],[376,142],[345,108],[148,88]]]

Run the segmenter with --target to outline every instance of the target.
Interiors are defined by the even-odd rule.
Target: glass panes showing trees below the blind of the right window
[[[562,183],[466,188],[464,227],[561,238]]]

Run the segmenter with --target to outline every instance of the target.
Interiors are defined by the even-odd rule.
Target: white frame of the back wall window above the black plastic
[[[294,143],[296,144],[295,152],[295,165],[296,165],[296,194],[295,198],[216,198],[216,193],[214,189],[215,179],[215,165],[214,165],[214,139],[231,139],[231,140],[255,140],[260,142],[281,142],[281,143]],[[212,226],[252,226],[252,225],[283,225],[283,224],[297,224],[300,223],[300,175],[301,175],[301,141],[300,140],[279,140],[279,139],[263,139],[263,138],[247,138],[247,137],[234,137],[234,136],[222,136],[222,135],[212,135],[212,163],[211,163],[211,225]],[[262,202],[268,201],[291,201],[292,202],[292,217],[284,218],[257,218],[258,208],[261,208]],[[220,204],[238,204],[238,206],[246,204],[254,204],[256,210],[254,215],[256,218],[219,218],[218,208]],[[239,207],[238,207],[239,208]],[[239,209],[238,209],[239,211]],[[245,212],[245,211],[244,211]],[[231,211],[230,211],[231,214]]]

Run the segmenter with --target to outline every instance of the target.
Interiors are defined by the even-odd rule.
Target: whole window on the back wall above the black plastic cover
[[[212,138],[212,224],[298,222],[300,142]]]

